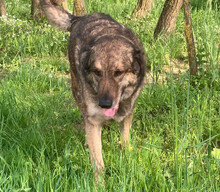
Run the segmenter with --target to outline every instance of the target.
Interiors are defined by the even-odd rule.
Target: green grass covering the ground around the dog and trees
[[[130,147],[120,149],[117,124],[103,129],[103,188],[94,184],[79,129],[68,33],[30,20],[29,2],[7,1],[9,18],[0,19],[0,191],[220,191],[220,159],[213,155],[220,140],[217,3],[192,1],[200,71],[192,87],[188,72],[172,73],[171,63],[187,66],[182,13],[175,34],[155,42],[162,0],[144,19],[130,17],[134,0],[86,1],[87,12],[111,14],[138,34],[153,78],[137,101]],[[171,73],[160,82],[165,66]]]

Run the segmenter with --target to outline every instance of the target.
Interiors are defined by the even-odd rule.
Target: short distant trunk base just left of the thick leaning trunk
[[[132,16],[143,18],[147,16],[153,7],[153,0],[138,0]]]

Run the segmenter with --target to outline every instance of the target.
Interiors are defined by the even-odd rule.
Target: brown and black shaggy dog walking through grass
[[[68,57],[72,92],[82,113],[95,177],[103,172],[101,127],[120,123],[123,145],[129,139],[134,106],[145,79],[141,41],[109,15],[73,16],[50,0],[41,0],[49,22],[70,32]]]

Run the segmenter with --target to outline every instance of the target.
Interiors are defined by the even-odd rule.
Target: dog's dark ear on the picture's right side
[[[138,48],[135,48],[133,52],[133,58],[133,73],[139,74],[141,71],[144,71],[145,68],[145,56],[143,51]]]

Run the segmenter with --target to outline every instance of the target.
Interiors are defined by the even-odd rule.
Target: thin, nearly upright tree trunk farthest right
[[[187,50],[189,57],[189,70],[190,70],[190,75],[195,76],[197,74],[198,68],[196,61],[196,49],[195,49],[195,43],[194,43],[193,31],[192,31],[190,0],[184,0],[183,7],[184,7],[184,20],[185,20],[184,31],[186,36]]]

